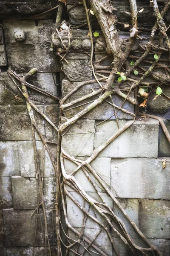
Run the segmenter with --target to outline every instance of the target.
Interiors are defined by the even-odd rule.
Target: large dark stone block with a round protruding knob
[[[12,20],[4,23],[8,64],[23,72],[36,67],[39,72],[60,72],[60,64],[50,52],[53,20]],[[26,61],[27,60],[27,61]]]

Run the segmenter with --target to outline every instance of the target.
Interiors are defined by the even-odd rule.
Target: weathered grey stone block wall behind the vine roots
[[[56,5],[54,1],[49,2],[46,7],[46,3],[41,5],[32,3],[32,7],[29,4],[24,6],[20,3],[20,8],[18,9],[15,4],[13,7],[12,4],[9,4],[9,9],[5,7],[3,9],[2,37],[4,41],[1,40],[0,42],[3,46],[3,53],[1,55],[3,59],[2,61],[0,59],[0,256],[45,255],[42,209],[38,213],[36,210],[34,211],[37,207],[38,180],[34,162],[31,123],[25,99],[6,73],[7,68],[9,67],[22,77],[31,68],[36,67],[38,72],[29,80],[29,83],[44,89],[54,96],[60,96],[60,90],[54,84],[51,70],[57,84],[60,78],[63,77],[62,70],[65,71],[65,76],[61,83],[62,96],[67,95],[80,81],[87,81],[93,78],[89,57],[91,42],[87,37],[89,32],[87,26],[81,30],[72,30],[72,48],[67,56],[68,63],[62,60],[61,70],[59,59],[50,52],[51,33],[55,23],[53,19],[55,17],[54,12],[52,14],[48,13],[46,16],[38,16],[38,20],[37,17],[36,20],[34,20],[34,17],[26,20],[6,20],[7,18],[9,19],[9,12],[14,18],[23,17],[23,15],[29,17],[37,13],[37,10],[38,12],[44,12]],[[67,8],[71,7],[72,2],[67,2]],[[126,7],[126,3],[123,1],[121,3],[122,6]],[[123,15],[126,14],[126,8],[121,9],[120,6],[118,6],[116,15],[119,19],[121,17],[123,19]],[[81,25],[86,21],[84,7],[81,4],[76,8],[72,8],[68,16],[71,25]],[[144,23],[147,22],[148,17],[152,21],[150,9],[146,7],[145,11],[139,15],[140,25],[146,25]],[[167,20],[168,18],[169,13],[167,14]],[[120,21],[124,22],[124,20]],[[95,29],[99,29],[95,20],[93,26]],[[102,47],[105,47],[105,42],[103,41],[102,33],[100,31],[99,33],[100,36],[95,42],[95,50],[98,52],[96,60],[105,56],[100,53],[103,51]],[[127,37],[126,32],[121,33],[123,38]],[[65,40],[64,43],[67,44],[67,32],[63,29],[60,35]],[[141,36],[148,38],[148,35]],[[54,47],[63,49],[59,38],[56,37],[54,40]],[[102,61],[101,66],[109,66],[111,61],[112,59],[107,58],[105,61]],[[92,89],[96,90],[96,88],[99,89],[97,83],[86,83],[73,96],[68,98],[65,104],[91,93]],[[34,104],[57,126],[59,121],[58,101],[37,93],[32,89],[28,89],[28,92]],[[131,95],[133,95],[133,92],[131,92]],[[69,109],[69,106],[65,108],[61,123],[82,111],[87,106],[87,103],[94,99],[96,99],[96,96],[90,100],[86,99],[83,102],[84,105],[77,108]],[[164,99],[161,100],[163,101]],[[119,96],[113,96],[112,101],[119,108],[123,102]],[[94,108],[93,111],[72,125],[63,135],[62,146],[68,154],[77,159],[86,160],[99,145],[104,143],[118,130],[112,101],[109,99],[107,102]],[[77,103],[77,105],[79,104]],[[131,103],[126,102],[124,108],[127,112],[119,110],[117,114],[120,119],[120,127],[127,120],[133,119],[134,116],[134,107]],[[153,106],[150,107],[150,110],[151,113],[157,111],[155,108],[153,110]],[[170,131],[169,107],[163,113],[158,114],[166,119],[165,123]],[[51,151],[56,156],[56,131],[51,128],[42,116],[38,113],[35,113],[35,115],[42,135],[47,139]],[[44,146],[38,134],[36,134],[36,145],[41,169],[43,169],[44,165],[43,190],[49,242],[53,248],[54,255],[57,255],[54,212],[55,172],[47,151],[45,151],[45,159],[43,160]],[[159,248],[163,256],[170,255],[169,157],[170,145],[159,126],[159,122],[155,119],[141,117],[136,119],[127,131],[108,145],[91,163],[94,170],[111,187],[111,190],[121,202],[130,218],[142,230],[149,241]],[[162,162],[165,159],[166,167],[163,168]],[[64,164],[67,174],[73,172],[77,167],[77,165],[67,159],[65,159]],[[88,195],[91,195],[96,200],[100,200],[94,186],[91,185],[82,169],[79,169],[75,177]],[[92,179],[98,184],[95,177],[92,177]],[[85,209],[89,209],[89,204],[84,201],[81,195],[69,186],[67,189],[82,207],[85,205]],[[108,205],[125,222],[127,230],[136,244],[146,246],[133,227],[119,212],[119,209],[116,208],[116,205],[113,204],[111,198],[103,192],[102,187],[99,187],[99,190]],[[83,224],[82,211],[69,197],[67,197],[67,211],[68,220],[72,227],[81,231]],[[90,210],[90,213],[94,217],[98,214],[92,210]],[[105,220],[100,215],[97,215],[97,217],[105,224]],[[35,235],[36,223],[37,230]],[[91,240],[96,236],[94,244],[106,255],[116,255],[107,233],[105,230],[100,232],[99,224],[96,224],[93,219],[87,218],[84,233]],[[69,230],[69,236],[72,239],[78,238],[71,230]],[[113,232],[112,237],[120,255],[130,255],[128,248],[122,244],[116,233]],[[96,255],[95,249],[92,248],[92,250],[92,255]],[[83,253],[85,253],[83,247],[79,247],[79,254],[82,255]],[[70,253],[70,255],[74,255],[74,253]],[[89,254],[85,253],[84,255]]]

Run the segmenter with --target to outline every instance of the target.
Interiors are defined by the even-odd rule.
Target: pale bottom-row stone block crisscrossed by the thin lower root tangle
[[[77,231],[79,233],[81,233],[81,229],[77,228]],[[85,228],[84,230],[84,236],[89,239],[90,241],[93,241],[94,237],[96,236],[96,239],[94,240],[93,244],[96,245],[100,250],[102,250],[103,253],[105,253],[108,256],[112,256],[113,252],[112,252],[112,244],[111,241],[108,238],[108,235],[106,233],[105,230],[102,230],[101,233],[99,233],[99,235],[97,236],[97,234],[99,233],[99,229],[92,229],[92,228]],[[79,237],[71,230],[69,230],[69,236],[74,239],[74,240],[78,240]],[[82,241],[82,244],[87,248],[88,247],[88,243],[85,241]],[[74,248],[74,251],[77,248],[77,245]],[[89,251],[91,253],[92,256],[96,256],[97,254],[99,254],[99,252],[97,252],[93,247],[89,247]],[[89,256],[90,253],[85,252],[85,248],[82,246],[79,246],[79,250],[78,250],[80,255],[85,255],[85,256]],[[70,252],[71,256],[74,256],[73,252]],[[122,255],[121,255],[122,256]]]

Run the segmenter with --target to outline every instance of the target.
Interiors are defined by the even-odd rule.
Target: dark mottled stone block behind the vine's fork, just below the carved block
[[[104,84],[104,83],[102,83]],[[78,82],[70,82],[67,79],[63,79],[62,81],[62,95],[65,96],[67,93],[69,93],[71,90],[74,89],[74,87],[78,86],[79,83]],[[81,88],[79,88],[79,90],[77,90],[73,95],[71,95],[66,101],[65,104],[79,99],[89,93],[92,92],[93,90],[98,90],[100,89],[99,85],[97,83],[95,84],[86,84],[84,86],[82,86]],[[100,96],[101,93],[98,94],[98,96]],[[133,92],[131,93],[131,96],[133,97]],[[82,111],[84,108],[86,108],[88,106],[88,102],[94,101],[96,100],[98,97],[97,96],[93,96],[90,99],[85,99],[82,102],[76,103],[71,107],[65,108],[64,111],[64,116],[66,118],[71,118],[72,116],[74,116],[75,114],[77,114],[79,111]],[[113,102],[116,106],[120,107],[122,105],[123,102],[123,98],[114,94],[112,96]],[[111,104],[113,104],[113,102],[111,101],[111,99],[107,99],[107,102],[102,102],[100,105],[96,106],[93,110],[91,110],[89,113],[85,114],[82,118],[83,119],[98,119],[98,120],[105,120],[105,119],[116,119],[115,115],[114,115],[114,108]],[[82,105],[84,104],[84,105]],[[82,105],[82,106],[79,106]],[[75,106],[79,106],[77,108],[72,108]],[[67,109],[70,109],[68,110]],[[127,111],[134,113],[134,107],[130,102],[125,102],[124,107]],[[116,111],[118,109],[116,108]],[[122,111],[118,111],[117,113],[117,117],[119,119],[133,119],[133,116],[130,116],[129,114],[122,112]]]

